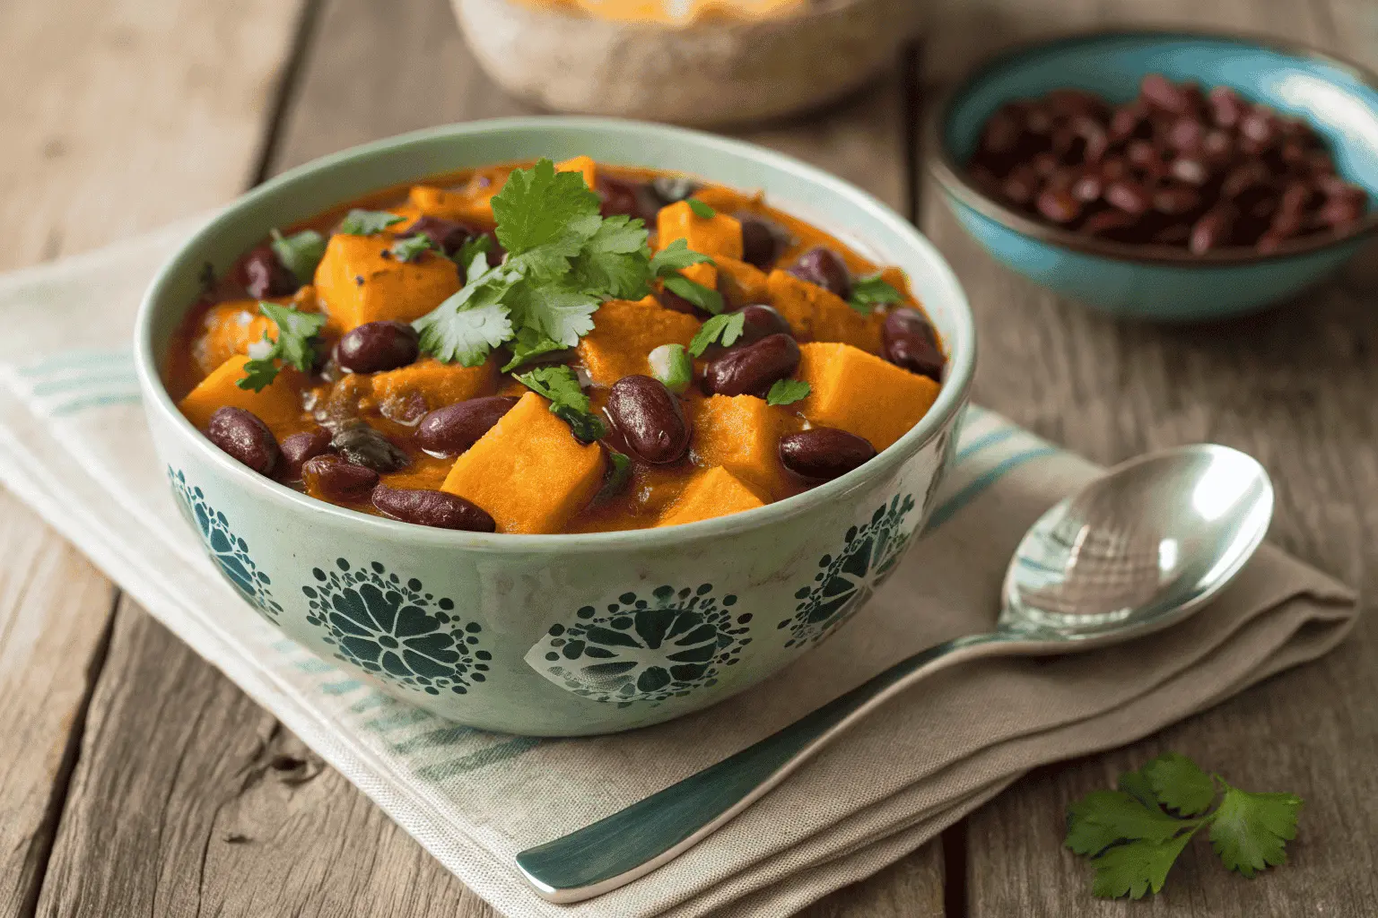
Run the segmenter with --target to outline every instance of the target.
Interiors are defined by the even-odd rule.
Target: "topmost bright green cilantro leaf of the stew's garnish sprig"
[[[579,244],[598,228],[598,195],[584,184],[582,172],[555,172],[542,158],[531,169],[513,169],[503,190],[493,195],[497,241],[518,256],[543,245],[579,252]]]

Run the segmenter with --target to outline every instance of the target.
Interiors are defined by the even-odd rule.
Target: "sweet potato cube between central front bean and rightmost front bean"
[[[780,464],[783,409],[755,395],[714,395],[693,401],[693,461],[721,465],[776,500],[788,494],[790,480]]]

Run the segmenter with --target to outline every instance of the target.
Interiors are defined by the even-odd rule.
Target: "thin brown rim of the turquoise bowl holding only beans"
[[[1169,25],[1163,26],[1111,26],[1111,28],[1090,28],[1079,29],[1072,32],[1060,33],[1051,39],[1032,39],[1028,41],[1020,41],[1011,45],[1006,45],[999,51],[981,59],[977,65],[969,69],[952,87],[944,91],[938,99],[938,103],[933,107],[927,124],[925,128],[925,138],[929,143],[929,149],[933,151],[929,154],[927,168],[929,173],[937,180],[938,186],[948,193],[951,197],[956,198],[959,202],[967,205],[973,211],[981,213],[991,220],[1005,226],[1006,228],[1014,230],[1021,235],[1031,237],[1039,242],[1046,242],[1056,245],[1058,248],[1071,249],[1080,252],[1083,255],[1094,255],[1104,259],[1111,259],[1115,261],[1127,261],[1134,264],[1169,264],[1175,267],[1224,267],[1224,266],[1240,266],[1240,264],[1258,264],[1262,261],[1276,261],[1283,259],[1294,259],[1304,255],[1312,255],[1331,246],[1341,246],[1356,239],[1360,239],[1375,230],[1378,230],[1378,209],[1370,209],[1364,217],[1352,226],[1349,230],[1339,235],[1327,235],[1317,233],[1312,237],[1301,237],[1299,239],[1291,239],[1282,244],[1277,249],[1272,252],[1255,252],[1253,249],[1233,248],[1217,252],[1206,252],[1204,255],[1192,255],[1185,249],[1178,249],[1167,245],[1134,245],[1131,242],[1115,242],[1111,239],[1097,239],[1093,237],[1086,237],[1072,230],[1064,230],[1057,226],[1050,226],[1040,220],[1036,220],[1025,213],[1009,208],[995,198],[985,194],[973,182],[967,180],[965,169],[956,162],[952,151],[948,150],[943,140],[943,128],[947,125],[951,117],[952,109],[955,107],[958,99],[960,99],[971,87],[988,76],[991,72],[1018,61],[1020,58],[1032,55],[1039,51],[1049,48],[1057,48],[1062,45],[1078,45],[1096,40],[1104,39],[1177,39],[1177,40],[1211,40],[1211,41],[1228,41],[1239,45],[1248,45],[1254,48],[1265,48],[1280,51],[1288,56],[1298,59],[1315,59],[1328,63],[1339,70],[1344,70],[1353,76],[1359,83],[1378,92],[1378,73],[1364,67],[1363,65],[1350,61],[1349,58],[1333,54],[1330,51],[1323,51],[1315,45],[1309,45],[1301,41],[1291,41],[1287,39],[1279,39],[1275,36],[1265,36],[1251,32],[1240,30],[1214,30],[1214,29],[1180,29]],[[1375,197],[1372,189],[1368,190],[1370,197]]]

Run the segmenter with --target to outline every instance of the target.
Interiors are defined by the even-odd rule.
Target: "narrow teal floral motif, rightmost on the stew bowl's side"
[[[777,628],[790,629],[785,647],[808,645],[830,634],[857,611],[876,586],[894,573],[911,533],[903,531],[904,519],[914,509],[914,495],[896,494],[882,504],[861,526],[842,537],[842,551],[819,559],[813,586],[801,588],[794,597],[799,604],[794,615]]]

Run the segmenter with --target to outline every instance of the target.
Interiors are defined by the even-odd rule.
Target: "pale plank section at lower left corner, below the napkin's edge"
[[[32,911],[114,588],[0,491],[0,915]]]

